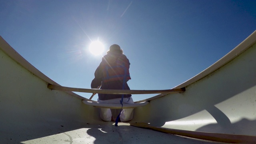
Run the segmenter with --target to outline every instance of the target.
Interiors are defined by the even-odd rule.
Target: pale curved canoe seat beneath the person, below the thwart
[[[121,104],[104,104],[98,102],[89,102],[87,100],[82,100],[85,104],[89,106],[94,106],[97,108],[112,108],[112,109],[121,109]],[[149,102],[142,102],[142,103],[134,103],[134,104],[123,104],[123,108],[136,108],[138,106],[146,106]]]

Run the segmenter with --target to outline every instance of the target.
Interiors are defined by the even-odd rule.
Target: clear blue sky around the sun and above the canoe
[[[105,51],[121,46],[132,90],[161,90],[200,73],[254,30],[256,0],[0,1],[0,35],[46,76],[76,88],[90,88],[101,62],[88,51],[93,40]]]

